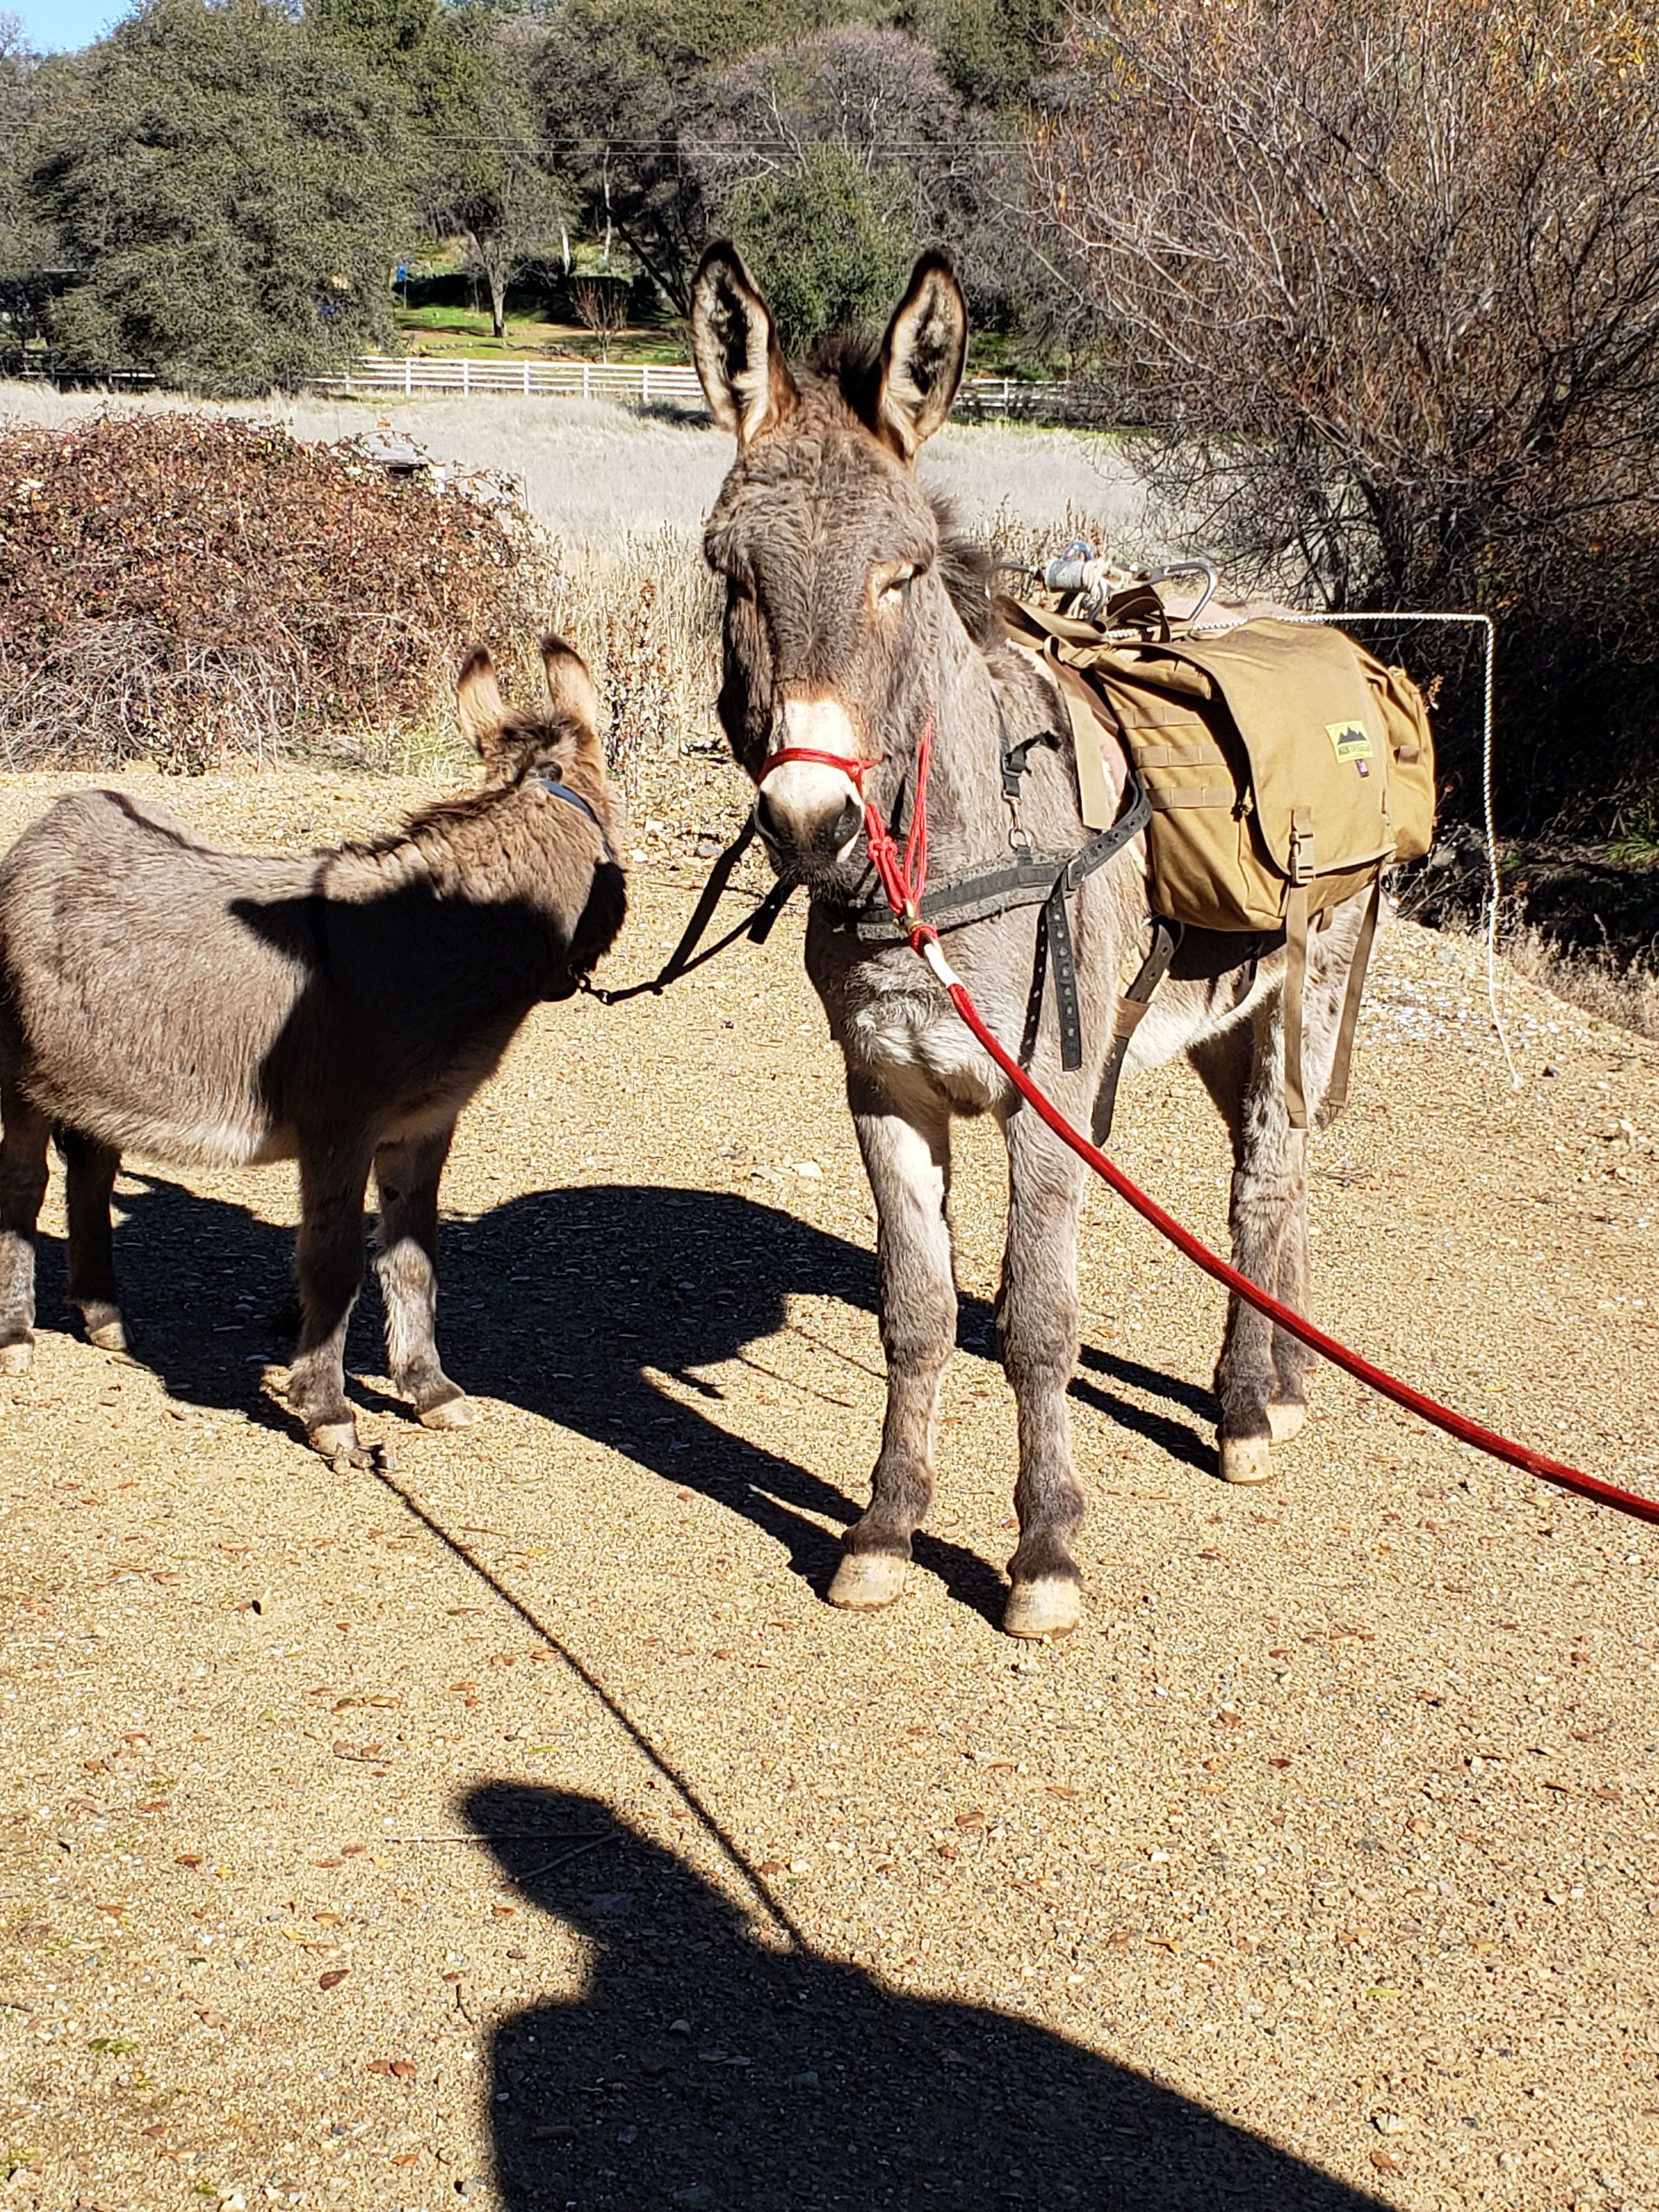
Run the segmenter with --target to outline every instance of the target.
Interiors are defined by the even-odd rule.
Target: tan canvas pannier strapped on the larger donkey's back
[[[1336,628],[1261,617],[1181,635],[1179,624],[1159,622],[1126,639],[1121,628],[1108,635],[1020,602],[1002,602],[1002,613],[1060,679],[1091,830],[1104,830],[1115,810],[1099,772],[1102,739],[1115,737],[1139,770],[1152,805],[1152,911],[1186,929],[1283,931],[1285,1095],[1292,1124],[1305,1126],[1310,916],[1371,887],[1332,1077],[1338,1104],[1383,869],[1420,858],[1433,836],[1422,692]]]

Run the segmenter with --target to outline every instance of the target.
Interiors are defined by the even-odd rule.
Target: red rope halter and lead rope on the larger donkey
[[[1020,1097],[1031,1106],[1031,1110],[1068,1146],[1086,1168],[1108,1183],[1119,1199],[1135,1208],[1141,1221],[1150,1221],[1152,1228],[1168,1237],[1177,1252],[1186,1254],[1194,1267],[1201,1267],[1217,1283],[1223,1283],[1237,1298],[1245,1305],[1254,1305],[1259,1314],[1265,1314],[1276,1327],[1296,1336],[1321,1358],[1327,1358],[1332,1367],[1340,1367],[1343,1374],[1354,1376],[1369,1389],[1378,1391],[1383,1398],[1391,1398],[1394,1405],[1402,1405],[1407,1413],[1418,1413],[1422,1420],[1433,1422],[1436,1429],[1444,1429],[1447,1436],[1455,1436],[1460,1444],[1473,1444],[1475,1451],[1489,1453],[1493,1460],[1506,1460],[1511,1467],[1524,1469],[1528,1475],[1540,1475],[1544,1482],[1555,1482],[1557,1489],[1573,1491],[1579,1498],[1593,1498],[1601,1506],[1613,1506],[1615,1513],[1628,1513],[1632,1520],[1652,1522],[1659,1526],[1659,1500],[1639,1498],[1635,1491],[1621,1491],[1613,1482],[1599,1482],[1595,1475],[1582,1473],[1577,1467],[1566,1467],[1562,1460],[1551,1460],[1542,1451],[1533,1451],[1526,1444],[1513,1444],[1506,1436],[1498,1436],[1495,1429],[1482,1429],[1478,1420],[1469,1420],[1467,1413],[1453,1413],[1449,1405],[1440,1405],[1438,1398],[1429,1398],[1420,1389],[1411,1389],[1409,1383],[1396,1383],[1391,1374],[1383,1367],[1374,1367],[1371,1360],[1360,1358],[1358,1352],[1349,1352],[1347,1345],[1316,1329],[1312,1321],[1294,1312],[1290,1305],[1281,1305],[1279,1298],[1270,1296],[1250,1276],[1239,1274],[1219,1254],[1214,1254],[1206,1243],[1192,1234],[1192,1230],[1181,1228],[1181,1223],[1166,1214],[1161,1206],[1146,1197],[1121,1168],[1093,1146],[1088,1137],[1071,1126],[1071,1121],[1060,1113],[1060,1108],[1044,1097],[1042,1091],[1031,1082],[1020,1062],[1006,1053],[998,1040],[987,1029],[980,1009],[967,993],[967,984],[956,975],[945,951],[940,949],[938,929],[929,929],[920,920],[922,891],[927,887],[927,763],[933,750],[933,717],[927,717],[922,730],[922,741],[916,752],[916,807],[911,814],[909,836],[905,838],[905,858],[898,858],[898,845],[894,843],[887,825],[883,823],[876,807],[863,796],[865,772],[874,768],[874,761],[847,761],[838,754],[827,752],[805,752],[801,748],[790,752],[774,752],[759,781],[772,774],[785,759],[810,759],[823,761],[827,768],[838,768],[843,774],[852,776],[852,785],[858,792],[865,807],[865,838],[869,843],[869,865],[880,876],[880,887],[887,894],[887,905],[894,909],[894,918],[909,929],[911,949],[922,956],[938,982],[951,998],[951,1004],[962,1015],[967,1026],[973,1031],[984,1051],[995,1060],[1002,1073],[1009,1077]]]

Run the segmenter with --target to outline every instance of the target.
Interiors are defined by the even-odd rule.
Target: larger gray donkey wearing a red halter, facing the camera
[[[807,973],[847,1064],[878,1212],[887,1420],[874,1495],[847,1531],[830,1597],[885,1606],[902,1588],[931,1495],[940,1374],[956,1343],[951,1119],[991,1113],[1009,1148],[998,1329],[1020,1418],[1020,1544],[1002,1626],[1015,1637],[1064,1635],[1079,1617],[1073,1542],[1084,1498],[1071,1469],[1066,1389],[1077,1360],[1086,1170],[1020,1108],[916,953],[872,942],[880,900],[860,834],[860,787],[902,832],[918,743],[931,728],[933,883],[1006,865],[1004,748],[1031,748],[1015,807],[1031,847],[1060,865],[1088,838],[1064,703],[1002,637],[984,553],[914,473],[918,447],[956,396],[967,305],[949,261],[927,254],[876,352],[841,347],[792,369],[741,259],[717,246],[697,276],[692,343],[708,405],[739,442],[703,542],[726,580],[721,721],[741,765],[763,779],[757,825],[776,869],[812,894]],[[830,759],[768,770],[772,754],[794,750]],[[836,765],[843,759],[849,768]],[[1115,772],[1121,779],[1121,763]],[[1363,905],[1338,907],[1310,947],[1303,1077],[1312,1110],[1329,1082]],[[1011,1046],[1026,1020],[1035,931],[1037,909],[1026,905],[945,936],[951,967]],[[1073,933],[1084,1066],[1062,1068],[1051,989],[1033,1075],[1086,1130],[1121,978],[1150,936],[1137,845],[1086,876]],[[1190,1057],[1232,1135],[1234,1261],[1303,1310],[1307,1137],[1290,1128],[1283,1104],[1283,951],[1239,958],[1230,945],[1210,973],[1190,964],[1186,975],[1177,960],[1135,1031],[1128,1066],[1179,1051]],[[1217,1367],[1230,1482],[1272,1473],[1272,1442],[1303,1422],[1307,1358],[1294,1338],[1232,1305]]]

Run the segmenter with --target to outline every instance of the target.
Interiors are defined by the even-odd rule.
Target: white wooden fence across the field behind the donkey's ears
[[[622,361],[440,361],[431,354],[367,354],[341,376],[319,378],[330,394],[354,398],[400,392],[507,394],[518,398],[672,400],[701,407],[697,369]],[[1026,385],[1013,376],[969,376],[956,398],[964,416],[1033,416],[1048,422],[1095,420],[1093,400],[1073,385]]]

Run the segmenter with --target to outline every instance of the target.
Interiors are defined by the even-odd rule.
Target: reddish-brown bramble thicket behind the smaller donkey
[[[522,648],[555,593],[511,504],[394,482],[361,440],[206,414],[0,427],[11,768],[407,750],[447,726],[462,648]]]

